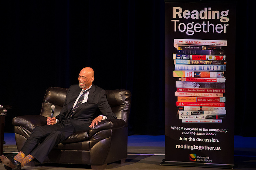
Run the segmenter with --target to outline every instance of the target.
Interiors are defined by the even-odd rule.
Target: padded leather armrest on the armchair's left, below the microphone
[[[14,126],[23,126],[28,129],[30,132],[33,131],[35,126],[43,126],[46,125],[46,117],[41,115],[24,115],[17,116],[13,118],[12,124]]]

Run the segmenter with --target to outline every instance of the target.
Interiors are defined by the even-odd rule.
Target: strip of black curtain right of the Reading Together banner
[[[235,133],[256,136],[255,111],[255,28],[256,1],[237,2]]]

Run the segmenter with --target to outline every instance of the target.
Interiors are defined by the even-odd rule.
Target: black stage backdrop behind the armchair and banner
[[[255,3],[237,1],[234,107],[235,134],[242,136],[256,135]],[[13,132],[13,117],[40,113],[49,86],[77,84],[89,66],[98,86],[132,92],[129,134],[164,134],[163,0],[13,0],[1,6],[0,104],[12,106],[5,132]]]

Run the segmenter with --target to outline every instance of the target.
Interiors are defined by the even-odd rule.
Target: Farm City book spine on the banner
[[[206,65],[226,65],[226,61],[212,61],[212,60],[181,60],[175,59],[174,64],[206,64]]]

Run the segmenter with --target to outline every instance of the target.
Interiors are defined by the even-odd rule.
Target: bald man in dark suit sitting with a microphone
[[[48,117],[47,125],[36,126],[16,156],[0,156],[5,169],[21,169],[34,158],[43,163],[52,148],[71,134],[94,128],[103,119],[116,119],[106,100],[105,90],[93,84],[93,69],[83,68],[78,80],[79,85],[70,86],[63,108],[56,118]],[[96,115],[98,109],[101,115]]]

